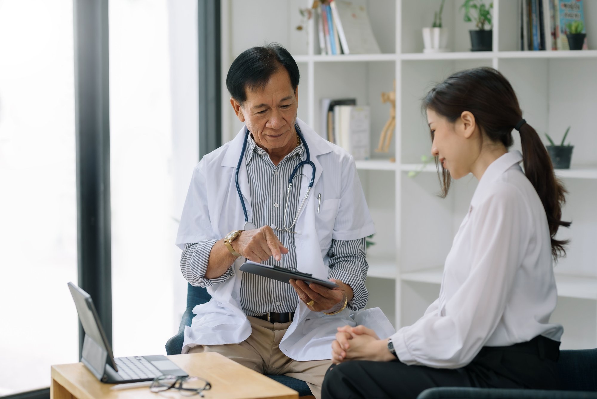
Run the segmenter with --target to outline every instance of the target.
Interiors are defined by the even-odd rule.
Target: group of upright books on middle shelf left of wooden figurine
[[[348,151],[357,161],[370,157],[370,111],[356,99],[322,99],[319,134]]]

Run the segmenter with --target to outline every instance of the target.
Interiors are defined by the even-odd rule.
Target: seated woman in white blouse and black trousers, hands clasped
[[[432,155],[450,179],[479,180],[444,265],[439,298],[412,326],[379,339],[338,328],[324,398],[416,398],[434,386],[557,389],[562,326],[552,257],[565,190],[524,119],[509,82],[493,68],[454,73],[423,100]],[[522,155],[508,152],[512,130]],[[524,173],[519,163],[523,162]]]

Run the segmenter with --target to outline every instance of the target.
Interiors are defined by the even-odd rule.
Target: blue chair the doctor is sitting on
[[[208,302],[210,299],[211,296],[207,293],[207,289],[203,287],[193,287],[188,284],[187,308],[186,311],[184,311],[182,320],[180,321],[179,333],[168,339],[168,342],[166,342],[166,352],[168,355],[180,355],[180,352],[183,349],[184,326],[190,326],[190,322],[193,320],[193,316],[195,315],[193,314],[193,308],[195,308],[196,305]],[[298,392],[298,396],[311,395],[309,385],[307,385],[307,383],[304,381],[288,376],[268,377],[288,386],[288,388],[294,389]]]

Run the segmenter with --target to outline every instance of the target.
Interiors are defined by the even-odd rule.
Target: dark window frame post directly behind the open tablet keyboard
[[[73,0],[78,280],[112,345],[108,0]],[[79,323],[79,357],[84,332]]]

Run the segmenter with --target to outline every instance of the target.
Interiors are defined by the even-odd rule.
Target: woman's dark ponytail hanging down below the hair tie
[[[524,173],[543,203],[547,215],[547,224],[549,225],[549,234],[552,237],[552,256],[553,259],[558,259],[558,256],[566,254],[564,247],[569,242],[569,240],[556,240],[554,238],[559,226],[570,227],[570,222],[561,220],[562,205],[566,202],[565,194],[567,191],[556,178],[552,161],[537,131],[529,124],[523,124],[519,131]]]

